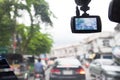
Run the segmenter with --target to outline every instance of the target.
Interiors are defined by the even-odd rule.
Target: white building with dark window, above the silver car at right
[[[87,54],[100,54],[101,58],[112,57],[112,48],[115,46],[114,32],[102,32],[85,39]]]

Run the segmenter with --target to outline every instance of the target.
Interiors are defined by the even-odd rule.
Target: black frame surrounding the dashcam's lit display
[[[96,18],[97,30],[76,30],[75,19],[76,18]],[[96,33],[101,32],[101,20],[99,16],[74,16],[71,18],[71,30],[72,33]]]

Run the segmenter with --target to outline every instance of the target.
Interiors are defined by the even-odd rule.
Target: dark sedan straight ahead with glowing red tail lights
[[[55,61],[50,71],[50,80],[85,80],[85,70],[76,58],[61,58]]]

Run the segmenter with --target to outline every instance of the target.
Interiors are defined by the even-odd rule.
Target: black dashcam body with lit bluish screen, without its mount
[[[101,19],[99,16],[74,16],[71,18],[72,33],[101,32]]]

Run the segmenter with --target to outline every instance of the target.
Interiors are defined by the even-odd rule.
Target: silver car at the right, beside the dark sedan
[[[92,61],[89,72],[97,80],[120,79],[120,66],[117,66],[112,59],[96,59]]]

